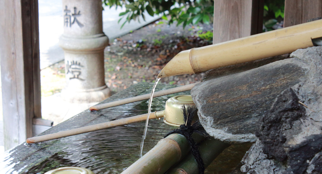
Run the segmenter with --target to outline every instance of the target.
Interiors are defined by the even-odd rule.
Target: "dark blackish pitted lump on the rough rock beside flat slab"
[[[305,115],[305,108],[298,102],[295,92],[288,88],[275,100],[271,109],[260,119],[255,135],[264,144],[263,152],[277,161],[287,158],[283,144],[286,141],[284,132],[292,128],[295,121]]]

